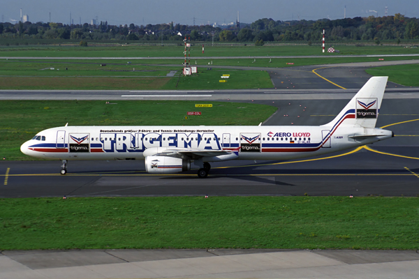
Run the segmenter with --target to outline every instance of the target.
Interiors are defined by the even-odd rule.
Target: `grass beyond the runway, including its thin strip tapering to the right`
[[[386,61],[412,59],[408,56],[386,57]],[[378,61],[377,57],[341,58],[294,58],[294,59],[192,59],[199,68],[198,75],[178,76],[182,73],[179,59],[166,60],[0,60],[1,89],[113,89],[113,90],[217,90],[217,89],[259,89],[272,88],[269,73],[254,70],[235,70],[226,83],[219,82],[219,74],[214,66],[240,66],[282,68],[333,63],[355,63]],[[128,63],[129,62],[129,63]],[[211,63],[212,65],[208,65]],[[287,65],[293,63],[293,65]],[[105,64],[106,66],[101,66]],[[164,65],[170,66],[164,66]],[[267,68],[269,67],[269,68]],[[51,70],[53,68],[53,70]],[[211,71],[207,68],[212,68]],[[170,70],[177,70],[175,77],[166,77]],[[397,73],[397,72],[396,72]]]

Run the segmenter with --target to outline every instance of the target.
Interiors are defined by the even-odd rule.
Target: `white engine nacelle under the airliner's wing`
[[[191,169],[191,160],[169,156],[147,156],[145,171],[151,174],[174,174]]]

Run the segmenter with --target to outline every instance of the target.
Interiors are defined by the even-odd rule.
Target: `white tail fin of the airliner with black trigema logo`
[[[330,123],[323,126],[374,128],[388,77],[371,77],[348,105]]]

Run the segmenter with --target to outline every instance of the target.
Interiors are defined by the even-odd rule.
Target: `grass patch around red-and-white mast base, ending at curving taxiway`
[[[101,65],[106,66],[101,66]],[[53,69],[53,70],[51,70]],[[166,77],[177,70],[175,77]],[[149,66],[126,61],[0,61],[1,89],[156,90],[272,88],[269,73],[252,70],[207,70],[178,79],[179,66]],[[231,74],[220,83],[220,76]],[[179,80],[179,83],[178,83]]]

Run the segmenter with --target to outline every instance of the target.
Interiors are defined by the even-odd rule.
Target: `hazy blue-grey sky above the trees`
[[[29,15],[30,22],[69,24],[90,23],[92,19],[108,24],[223,24],[251,23],[260,18],[273,20],[336,20],[346,17],[367,17],[401,13],[419,18],[419,0],[1,0],[1,22],[20,20]],[[71,14],[71,15],[70,15]]]

